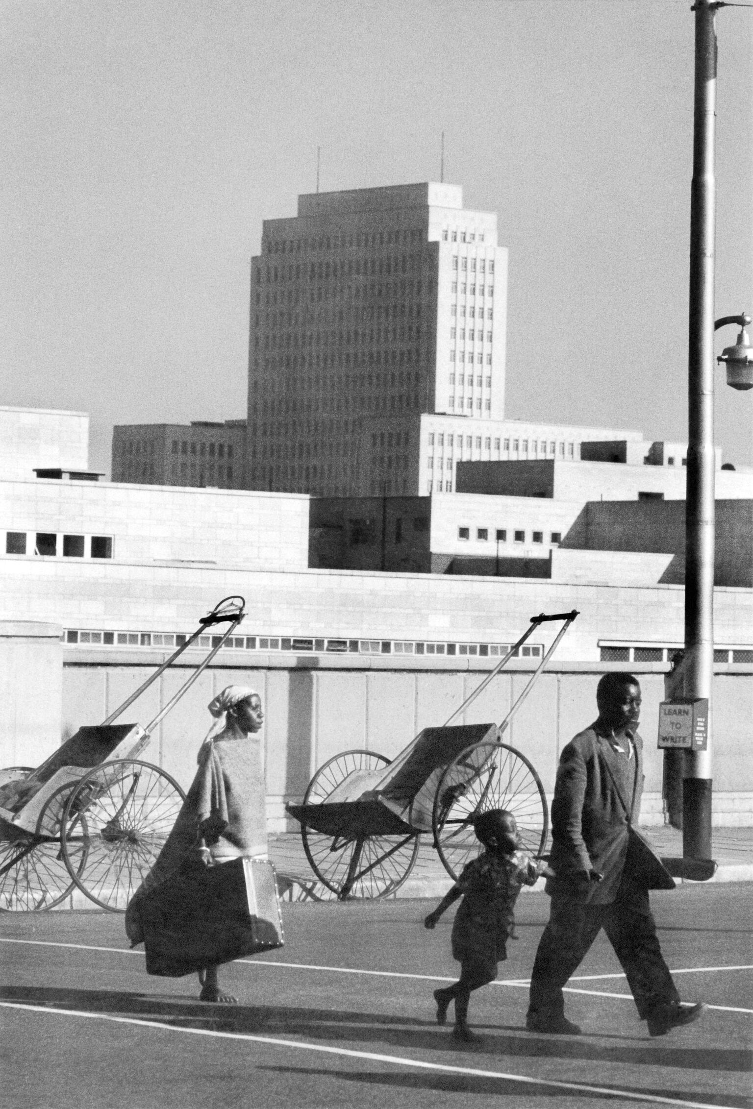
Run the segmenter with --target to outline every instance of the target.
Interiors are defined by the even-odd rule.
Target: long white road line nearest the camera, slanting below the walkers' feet
[[[329,1047],[324,1044],[307,1044],[303,1040],[277,1039],[274,1036],[255,1036],[246,1032],[227,1032],[210,1028],[189,1028],[167,1025],[159,1020],[140,1020],[138,1017],[116,1017],[109,1013],[82,1013],[78,1009],[51,1009],[42,1005],[22,1005],[14,1001],[0,1001],[6,1009],[21,1009],[28,1013],[44,1013],[48,1016],[82,1017],[90,1020],[109,1020],[113,1024],[136,1025],[141,1028],[161,1028],[163,1031],[182,1032],[186,1036],[210,1036],[217,1039],[241,1040],[250,1044],[268,1044],[272,1047],[293,1048],[298,1051],[318,1051],[323,1055],[345,1056],[349,1059],[368,1059],[370,1062],[386,1062],[397,1067],[415,1067],[419,1070],[435,1070],[442,1074],[466,1075],[470,1078],[497,1078],[500,1081],[518,1082],[521,1086],[547,1087],[556,1090],[577,1090],[580,1093],[600,1093],[603,1097],[624,1098],[630,1101],[649,1102],[650,1105],[681,1106],[683,1109],[733,1109],[732,1106],[711,1105],[706,1101],[686,1101],[684,1098],[666,1098],[657,1093],[639,1093],[634,1090],[610,1089],[604,1086],[590,1086],[587,1082],[564,1082],[553,1078],[531,1078],[529,1075],[510,1075],[499,1070],[480,1070],[475,1067],[454,1067],[447,1062],[428,1062],[424,1059],[409,1059],[399,1055],[381,1055],[376,1051],[355,1051],[350,1048]]]

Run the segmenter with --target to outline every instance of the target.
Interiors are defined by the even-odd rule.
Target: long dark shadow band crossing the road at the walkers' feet
[[[388,1046],[394,1050],[458,1051],[458,1045],[448,1029],[438,1028],[433,1021],[391,1014],[340,1013],[292,1006],[212,1005],[169,995],[42,986],[0,987],[0,1000],[81,1013],[119,1014],[176,1027],[356,1042],[366,1050]],[[505,1056],[676,1067],[682,1070],[753,1070],[753,1051],[742,1048],[679,1047],[649,1040],[630,1040],[618,1046],[600,1044],[597,1041],[599,1038],[539,1036],[519,1028],[498,1026],[485,1030],[480,1050],[472,1054],[479,1060],[487,1056]]]

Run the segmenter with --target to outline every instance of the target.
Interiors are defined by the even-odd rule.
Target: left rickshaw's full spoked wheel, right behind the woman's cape
[[[124,759],[84,774],[63,813],[62,848],[75,885],[111,913],[125,907],[151,871],[181,811],[185,794],[152,763]],[[69,849],[82,836],[83,865]]]

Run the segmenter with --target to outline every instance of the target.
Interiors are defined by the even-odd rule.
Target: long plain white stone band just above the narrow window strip
[[[559,658],[598,661],[600,641],[683,641],[680,586],[568,584],[521,578],[8,558],[0,619],[64,628],[185,632],[221,598],[246,598],[246,635],[517,639],[538,612],[578,609]],[[753,590],[714,590],[715,641],[753,643]],[[547,625],[537,642],[550,642]],[[538,635],[538,633],[537,633]]]

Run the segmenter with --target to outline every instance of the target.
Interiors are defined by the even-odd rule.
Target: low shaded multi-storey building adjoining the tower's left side
[[[243,489],[246,421],[121,424],[112,429],[112,480]]]

